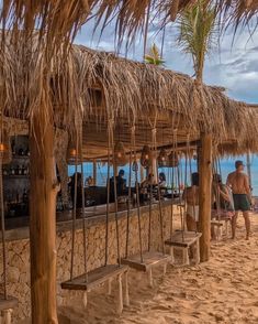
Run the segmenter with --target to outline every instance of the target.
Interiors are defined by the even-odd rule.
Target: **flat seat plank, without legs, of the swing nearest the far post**
[[[181,231],[176,231],[170,239],[165,241],[165,245],[170,247],[187,248],[195,244],[197,240],[202,236],[201,233],[184,231],[183,236]]]

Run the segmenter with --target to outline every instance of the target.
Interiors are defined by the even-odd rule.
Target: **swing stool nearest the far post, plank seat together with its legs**
[[[166,246],[170,248],[170,256],[172,263],[175,262],[175,250],[182,251],[182,264],[189,266],[189,248],[194,247],[194,263],[200,263],[200,237],[202,236],[201,233],[195,231],[176,231],[172,237],[165,241]]]

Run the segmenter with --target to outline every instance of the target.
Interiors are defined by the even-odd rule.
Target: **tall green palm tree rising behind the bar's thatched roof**
[[[205,0],[189,7],[178,20],[177,41],[184,53],[191,54],[198,82],[202,82],[205,54],[210,53],[218,39],[216,10]]]

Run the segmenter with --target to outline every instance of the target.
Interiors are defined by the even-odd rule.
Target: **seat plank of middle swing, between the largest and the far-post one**
[[[143,253],[143,262],[141,262],[141,256],[134,255],[128,257],[127,259],[122,259],[122,264],[127,264],[128,267],[147,272],[150,268],[161,266],[171,260],[171,257],[168,255],[164,255],[160,252],[144,252]]]

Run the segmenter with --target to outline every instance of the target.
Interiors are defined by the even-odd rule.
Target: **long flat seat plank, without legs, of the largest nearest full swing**
[[[61,288],[67,290],[91,290],[126,271],[128,271],[127,266],[108,264],[90,271],[88,273],[88,278],[86,274],[82,274],[74,278],[72,280],[63,282]]]

